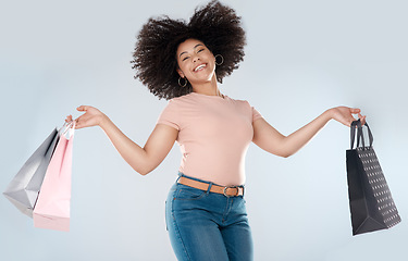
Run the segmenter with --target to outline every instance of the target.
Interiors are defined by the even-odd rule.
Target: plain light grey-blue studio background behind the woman
[[[368,115],[403,223],[351,236],[345,150],[337,122],[281,159],[251,145],[247,208],[256,260],[405,260],[408,236],[406,1],[223,1],[243,16],[245,62],[221,89],[290,134],[335,105]],[[133,78],[135,36],[152,15],[188,18],[206,1],[1,1],[0,188],[67,114],[90,104],[144,145],[166,104]],[[100,128],[77,130],[71,232],[33,227],[0,198],[0,260],[175,260],[164,200],[177,145],[148,176]],[[211,162],[209,162],[211,164]]]

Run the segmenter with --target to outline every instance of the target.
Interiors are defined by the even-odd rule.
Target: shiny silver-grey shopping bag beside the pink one
[[[3,192],[20,211],[30,217],[33,217],[33,209],[37,201],[38,191],[41,188],[59,136],[59,132],[54,128],[24,163]]]

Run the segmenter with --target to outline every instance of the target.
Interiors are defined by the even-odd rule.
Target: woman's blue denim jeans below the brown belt
[[[175,183],[165,203],[165,220],[181,261],[254,260],[243,196],[227,198]]]

